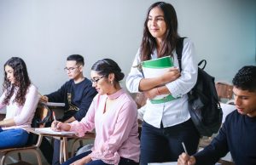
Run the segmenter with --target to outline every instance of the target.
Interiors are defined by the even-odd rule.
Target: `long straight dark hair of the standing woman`
[[[160,54],[158,54],[158,57],[160,58],[166,55],[172,55],[172,50],[176,48],[177,38],[179,38],[177,34],[177,14],[172,4],[164,2],[152,4],[148,9],[148,14],[151,9],[154,9],[155,7],[158,7],[163,11],[166,21],[166,33],[164,40],[161,43]],[[150,60],[150,54],[152,54],[154,48],[156,48],[155,38],[152,37],[148,31],[148,14],[144,22],[143,41],[141,43],[140,51],[141,60]]]

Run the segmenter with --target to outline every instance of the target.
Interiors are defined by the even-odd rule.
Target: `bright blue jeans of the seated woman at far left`
[[[0,149],[20,147],[26,145],[28,139],[28,133],[26,130],[7,129],[3,130],[0,128]]]

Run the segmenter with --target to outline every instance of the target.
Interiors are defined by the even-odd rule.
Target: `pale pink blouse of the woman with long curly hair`
[[[24,105],[17,105],[17,103],[14,103],[13,100],[15,100],[17,94],[17,90],[15,89],[15,93],[12,95],[12,97],[9,100],[9,105],[3,105],[3,99],[5,97],[5,93],[2,94],[0,97],[0,109],[2,109],[4,106],[6,106],[6,116],[5,119],[14,118],[15,120],[15,126],[12,127],[6,127],[3,129],[11,129],[11,128],[31,128],[32,118],[34,117],[36,108],[38,106],[38,88],[36,88],[34,85],[30,85],[29,88],[27,88],[26,93],[26,101]]]

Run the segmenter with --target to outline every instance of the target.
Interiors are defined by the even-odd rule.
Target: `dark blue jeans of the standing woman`
[[[168,128],[154,128],[143,122],[141,165],[148,165],[148,162],[177,162],[178,156],[184,152],[182,142],[189,155],[192,155],[197,151],[199,138],[191,119]]]

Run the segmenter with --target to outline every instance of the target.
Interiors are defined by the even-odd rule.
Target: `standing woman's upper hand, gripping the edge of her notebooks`
[[[176,80],[178,77],[180,77],[180,71],[177,67],[172,67],[162,76],[160,76],[160,80],[161,83],[166,84]]]

